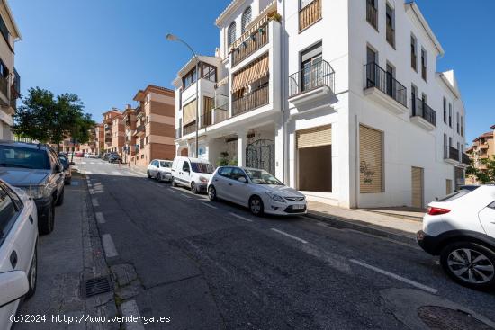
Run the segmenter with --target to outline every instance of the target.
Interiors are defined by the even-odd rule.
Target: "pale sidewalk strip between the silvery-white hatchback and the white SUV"
[[[419,217],[418,214],[414,212],[415,218]],[[405,243],[414,243],[416,233],[422,228],[419,219],[400,218],[370,210],[344,209],[318,201],[308,201],[308,217],[330,222],[335,227],[364,231]]]

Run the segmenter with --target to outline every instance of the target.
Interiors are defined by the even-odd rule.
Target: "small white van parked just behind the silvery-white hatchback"
[[[213,166],[204,159],[176,156],[172,163],[172,185],[191,188],[194,193],[206,192]]]

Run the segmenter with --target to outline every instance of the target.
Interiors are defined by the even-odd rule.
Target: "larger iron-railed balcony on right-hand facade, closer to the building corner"
[[[368,63],[365,68],[365,94],[396,114],[408,111],[408,89],[376,63]]]

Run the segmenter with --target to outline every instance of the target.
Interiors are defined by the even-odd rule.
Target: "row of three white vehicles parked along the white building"
[[[184,186],[194,193],[207,192],[211,201],[231,201],[256,216],[305,214],[306,198],[297,190],[262,169],[219,166],[208,161],[176,156],[174,161],[155,159],[148,165],[148,178]]]

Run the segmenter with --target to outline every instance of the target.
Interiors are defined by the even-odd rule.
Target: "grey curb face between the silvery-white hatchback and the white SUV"
[[[306,217],[327,222],[332,227],[353,229],[356,231],[364,232],[366,234],[393,239],[395,241],[399,241],[405,244],[412,244],[412,245],[417,244],[416,236],[414,234],[405,233],[400,230],[396,230],[396,232],[393,232],[392,231],[393,229],[392,230],[382,229],[379,227],[372,226],[365,221],[357,221],[357,220],[345,219],[335,216],[322,216],[311,210],[308,210]]]

